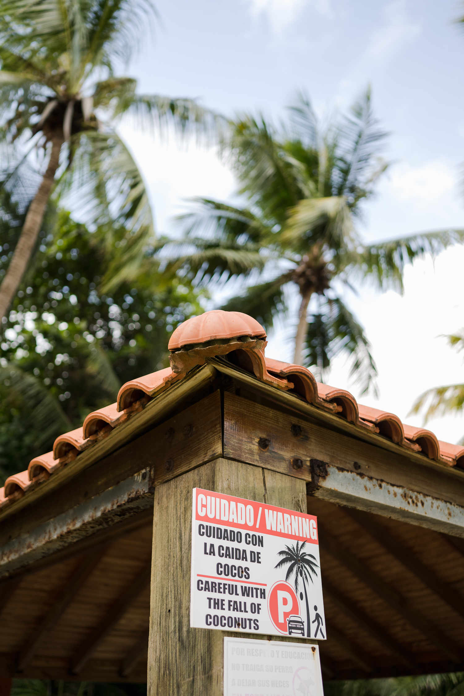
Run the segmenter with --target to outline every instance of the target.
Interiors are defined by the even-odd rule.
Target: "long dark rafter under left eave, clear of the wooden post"
[[[19,651],[16,661],[16,668],[18,672],[24,672],[26,667],[31,663],[37,648],[42,642],[42,638],[47,631],[55,626],[60,619],[61,615],[70,605],[74,597],[77,595],[81,587],[86,583],[86,580],[93,572],[100,560],[102,560],[102,549],[90,553],[87,557],[84,557],[78,562],[77,566],[73,569],[71,576],[68,578],[67,583],[65,583],[61,593],[54,604],[49,608],[47,614],[42,618],[40,624],[35,628],[29,640],[24,644],[22,649]]]

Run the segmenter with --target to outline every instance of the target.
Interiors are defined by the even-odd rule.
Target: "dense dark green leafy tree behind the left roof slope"
[[[8,225],[0,225],[0,242],[8,235]],[[166,367],[170,333],[202,311],[189,282],[160,274],[155,262],[136,282],[104,294],[107,261],[98,232],[66,212],[40,235],[33,268],[3,322],[3,478],[115,401],[122,383]]]

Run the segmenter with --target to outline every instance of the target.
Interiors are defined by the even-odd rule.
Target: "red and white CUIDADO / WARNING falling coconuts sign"
[[[316,517],[193,489],[190,625],[325,640]]]

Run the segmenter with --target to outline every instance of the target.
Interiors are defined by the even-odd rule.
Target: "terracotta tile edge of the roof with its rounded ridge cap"
[[[207,316],[211,314],[215,316]],[[200,317],[203,317],[202,322],[198,321]],[[358,404],[349,391],[317,382],[312,372],[306,367],[266,358],[264,356],[266,340],[263,340],[263,335],[266,338],[266,333],[262,327],[261,330],[257,329],[257,322],[251,317],[222,310],[206,312],[200,317],[189,319],[173,333],[171,339],[175,338],[175,341],[170,341],[170,347],[175,345],[171,354],[173,367],[166,367],[125,383],[120,388],[115,404],[89,413],[81,428],[56,438],[52,452],[35,457],[26,471],[8,477],[5,486],[0,489],[0,507],[21,498],[31,487],[35,487],[36,483],[47,480],[83,450],[111,434],[115,427],[142,411],[146,404],[159,393],[183,379],[193,365],[202,365],[211,356],[225,356],[232,352],[235,354],[233,364],[255,374],[257,379],[274,388],[303,397],[313,406],[333,413],[379,436],[387,437],[407,450],[423,452],[429,459],[435,459],[448,466],[458,464],[464,467],[463,446],[438,441],[433,432],[403,424],[394,413]],[[250,321],[247,322],[243,317]],[[195,322],[195,326],[189,326],[189,322]],[[200,329],[207,333],[199,334]],[[192,336],[195,338],[195,345],[192,345]],[[244,342],[243,337],[246,338]],[[226,345],[222,342],[217,346],[198,346],[198,344],[210,343],[221,338],[229,339]],[[179,346],[180,349],[178,349]]]

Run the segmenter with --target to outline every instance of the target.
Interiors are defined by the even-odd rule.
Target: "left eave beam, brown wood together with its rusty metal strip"
[[[59,495],[44,494],[40,504],[31,500],[30,508],[3,525],[8,534],[0,525],[0,574],[76,543],[95,532],[97,520],[99,528],[111,526],[152,507],[155,485],[221,454],[221,395],[216,390],[102,459],[79,480],[65,482]]]

